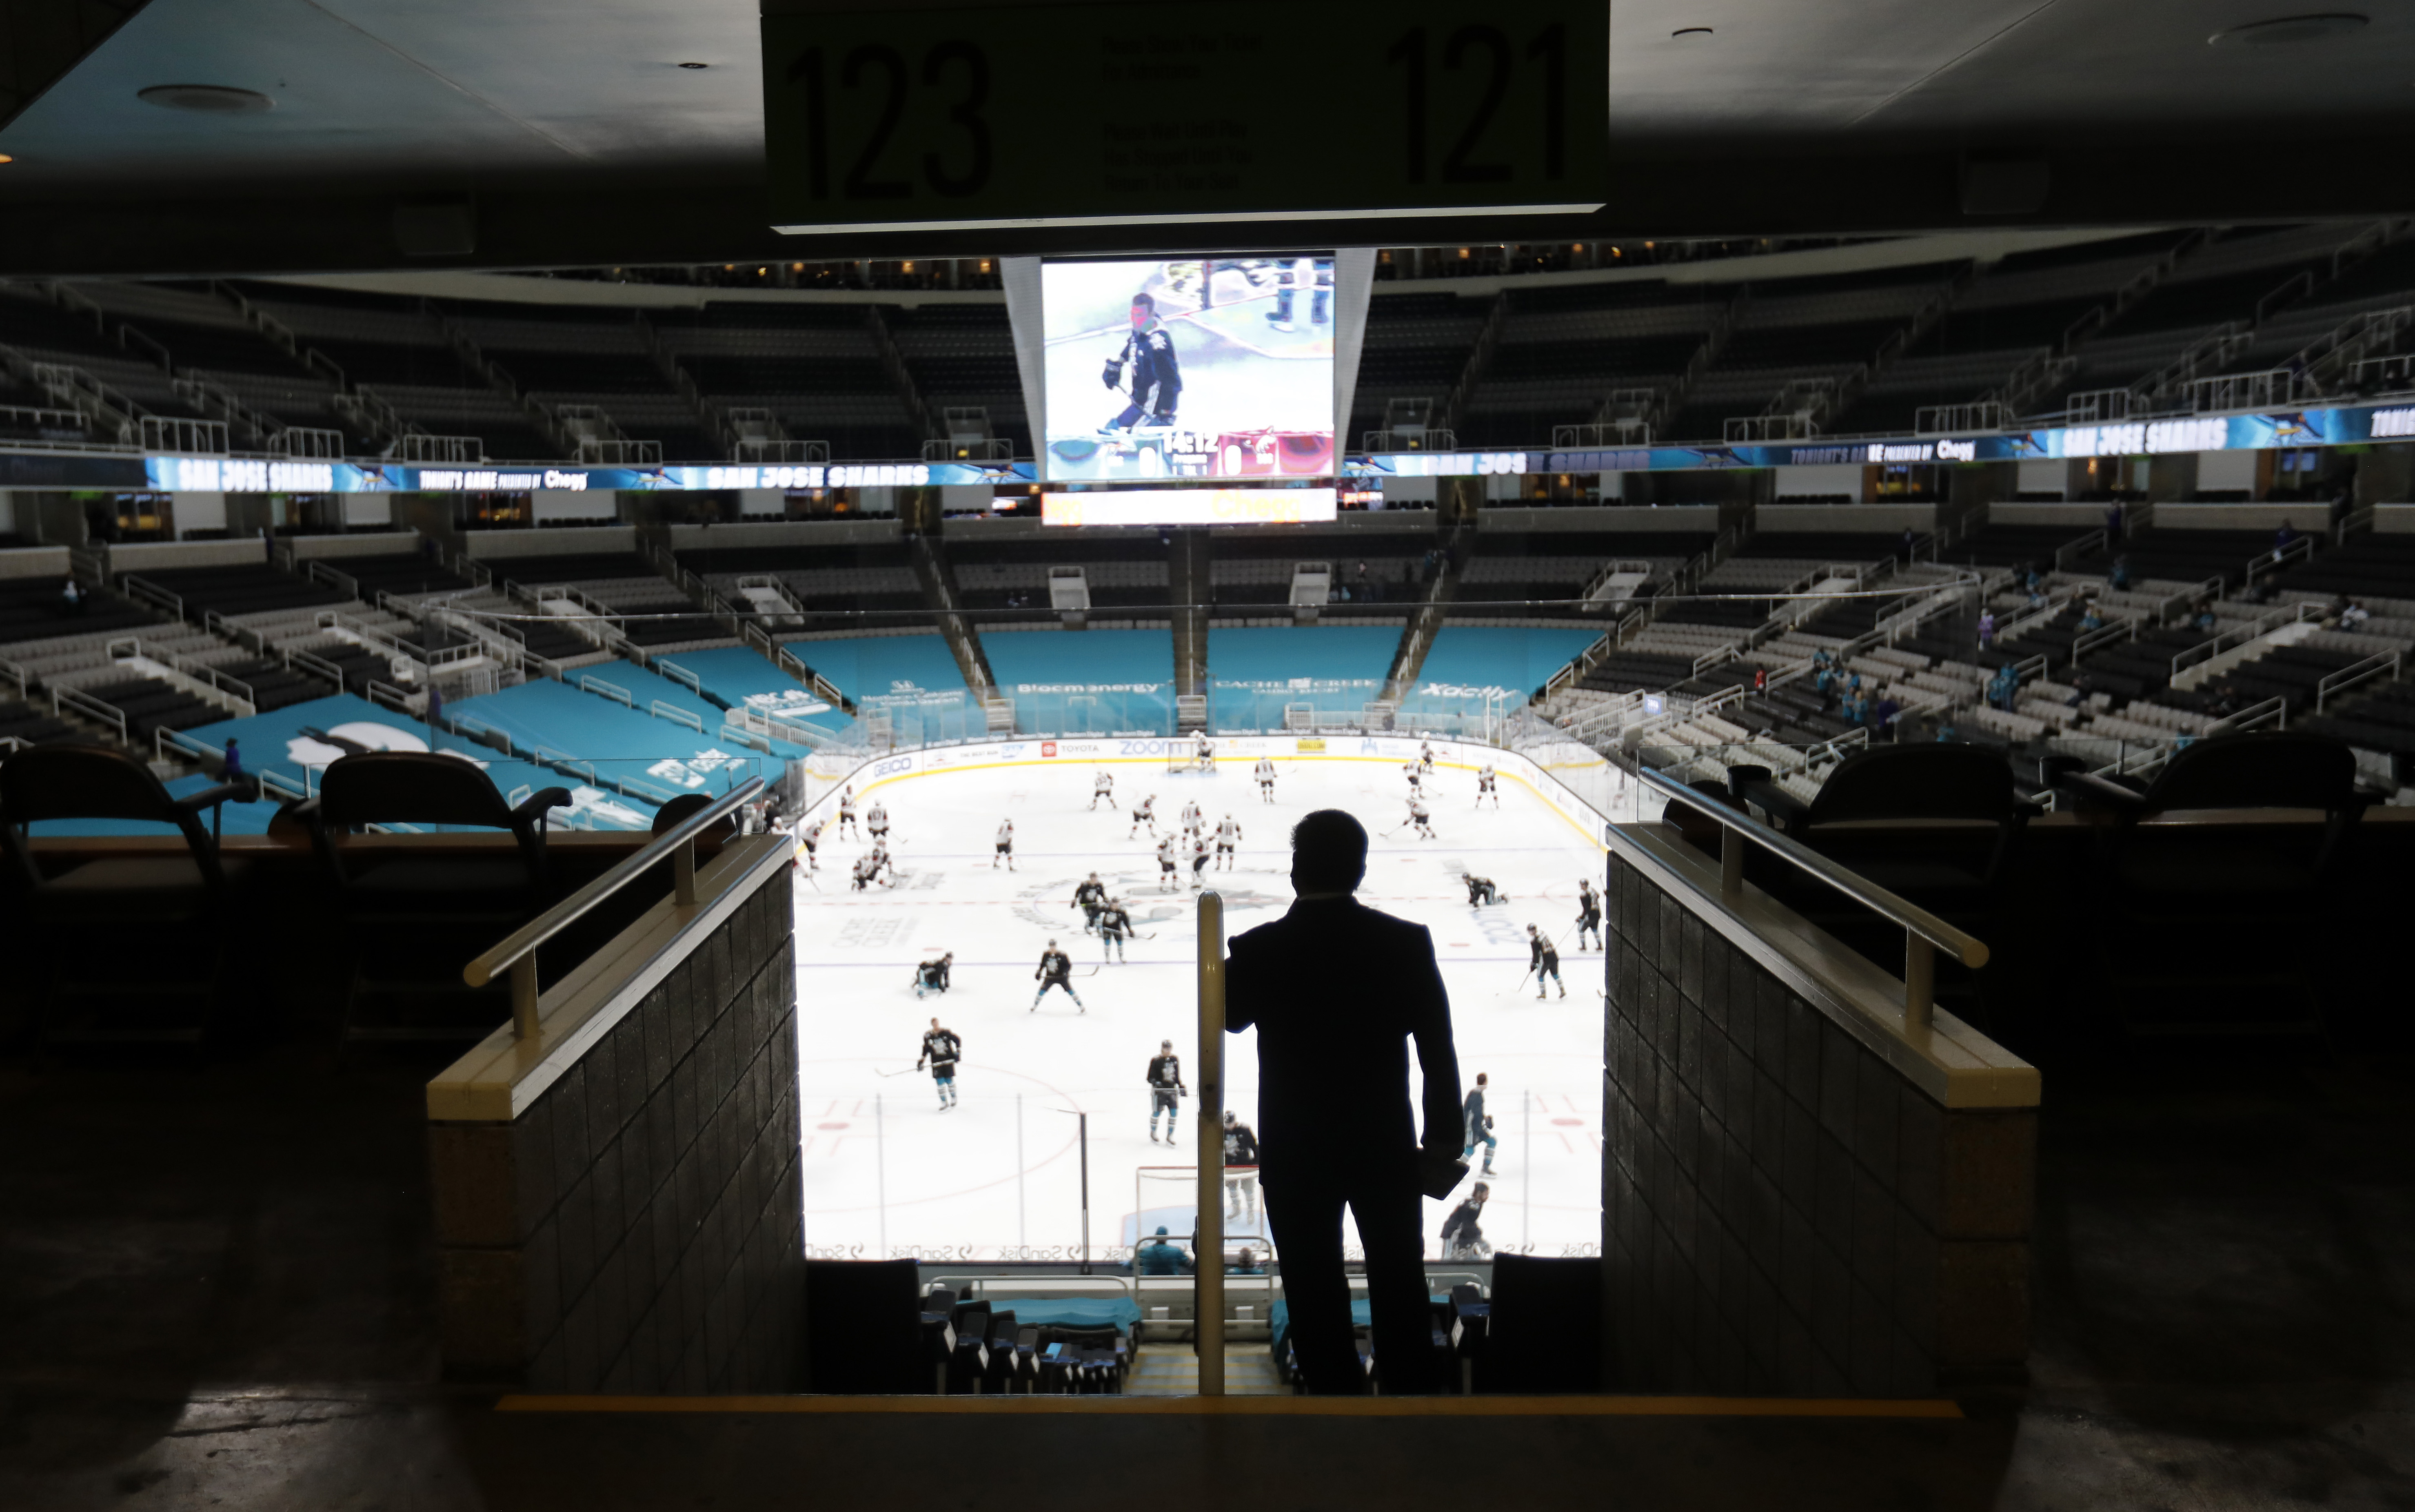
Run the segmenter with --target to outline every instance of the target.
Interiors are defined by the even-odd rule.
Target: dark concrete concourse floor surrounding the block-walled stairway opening
[[[2050,1075],[2033,1379],[1961,1423],[1009,1423],[447,1391],[437,1060],[0,1063],[0,1507],[2415,1505],[2405,1063]]]

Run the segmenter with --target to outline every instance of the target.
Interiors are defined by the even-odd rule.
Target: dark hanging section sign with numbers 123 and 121
[[[1594,0],[766,0],[780,232],[1599,210]]]

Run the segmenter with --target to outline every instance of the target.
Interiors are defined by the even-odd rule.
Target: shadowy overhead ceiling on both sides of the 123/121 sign
[[[2403,213],[2415,2],[2323,2],[2359,10],[1618,0],[1601,213],[1357,222],[1348,239]],[[758,70],[758,0],[0,0],[0,155],[12,159],[0,164],[0,273],[1169,242],[1164,227],[1135,227],[799,246],[766,229]],[[1335,85],[1350,80],[1352,63],[1335,60]],[[162,97],[176,85],[213,87],[198,104],[237,109]],[[1012,89],[1026,109],[1065,111],[1067,130],[1116,109],[1051,80]],[[1319,222],[1256,234],[1343,239]]]

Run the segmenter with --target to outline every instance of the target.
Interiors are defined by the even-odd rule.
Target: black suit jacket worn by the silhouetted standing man
[[[1459,1155],[1451,1000],[1425,925],[1357,899],[1292,903],[1282,918],[1234,937],[1224,959],[1224,1027],[1258,1029],[1263,1179],[1393,1164],[1413,1179],[1410,1039],[1425,1080],[1425,1142]]]

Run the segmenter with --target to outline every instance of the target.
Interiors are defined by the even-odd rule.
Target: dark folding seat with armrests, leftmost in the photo
[[[24,947],[48,961],[43,990],[43,1036],[68,1039],[51,1019],[60,993],[135,995],[123,1012],[109,1014],[75,1039],[200,1039],[210,1024],[220,969],[227,954],[229,901],[246,877],[246,865],[222,860],[217,841],[200,824],[203,809],[242,799],[242,785],[217,785],[188,797],[171,797],[167,785],[138,756],[116,746],[56,744],[31,746],[0,761],[0,850],[7,855],[7,891],[17,894],[12,911]],[[43,819],[130,819],[169,824],[184,838],[184,855],[101,855],[58,874],[43,874],[29,843],[31,824]],[[128,930],[186,927],[203,930],[203,952],[121,949]],[[87,940],[87,932],[101,937]],[[85,981],[60,981],[70,959],[116,966],[121,961],[210,961],[203,983],[133,981],[97,973]],[[186,1019],[167,1019],[159,1000],[200,995],[203,1010]]]

